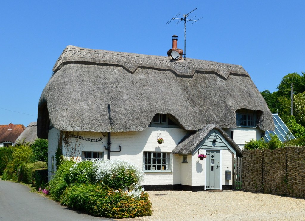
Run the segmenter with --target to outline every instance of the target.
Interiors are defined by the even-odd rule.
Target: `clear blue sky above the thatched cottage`
[[[41,92],[67,45],[163,55],[193,9],[186,57],[242,65],[259,91],[305,72],[305,1],[2,1],[0,124],[37,120]]]

